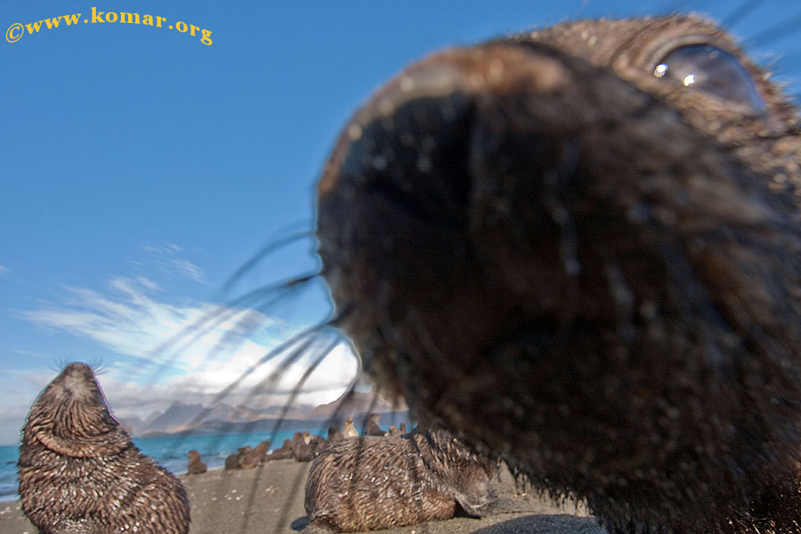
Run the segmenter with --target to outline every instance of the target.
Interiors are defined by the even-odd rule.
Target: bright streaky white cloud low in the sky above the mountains
[[[112,362],[108,372],[99,377],[112,409],[121,417],[146,417],[176,400],[209,406],[219,392],[299,330],[252,310],[165,302],[158,286],[142,277],[111,279],[107,286],[103,291],[70,287],[66,301],[21,312],[21,316],[142,359],[144,363],[138,368]],[[261,325],[255,335],[244,326],[243,318],[247,318],[247,324],[255,321]],[[205,328],[193,328],[201,323]],[[280,372],[280,362],[291,349],[258,365],[223,401],[252,407],[285,403],[312,362],[334,339],[317,336],[297,361],[287,363]],[[173,358],[171,371],[159,376],[159,366]],[[357,369],[348,345],[336,345],[308,376],[295,403],[333,401],[352,382]],[[260,388],[271,373],[277,374],[275,380]]]

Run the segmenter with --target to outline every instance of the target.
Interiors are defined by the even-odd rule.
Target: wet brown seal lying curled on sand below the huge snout
[[[471,515],[494,500],[494,465],[449,433],[338,441],[320,452],[305,507],[317,530],[357,532]]]

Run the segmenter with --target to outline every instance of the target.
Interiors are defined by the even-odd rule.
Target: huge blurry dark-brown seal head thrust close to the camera
[[[801,129],[723,30],[584,20],[411,66],[319,183],[364,368],[611,534],[801,531]]]

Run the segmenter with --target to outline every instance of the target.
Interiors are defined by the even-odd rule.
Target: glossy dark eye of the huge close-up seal
[[[711,44],[679,46],[659,61],[653,75],[758,111],[765,109],[748,70],[731,53]]]

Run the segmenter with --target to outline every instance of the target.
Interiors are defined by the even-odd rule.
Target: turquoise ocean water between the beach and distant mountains
[[[404,419],[393,420],[388,424],[399,425]],[[386,430],[385,425],[382,425]],[[208,435],[167,435],[149,438],[134,438],[134,444],[144,454],[155,459],[159,465],[174,474],[186,473],[189,462],[187,453],[200,452],[200,458],[209,469],[225,465],[225,458],[237,452],[240,447],[255,447],[260,441],[271,442],[270,450],[280,449],[284,440],[291,440],[295,432],[309,432],[326,437],[328,425],[314,424],[306,428],[291,428],[277,433],[225,433]],[[20,498],[17,492],[17,459],[20,455],[18,445],[0,445],[0,501]]]

